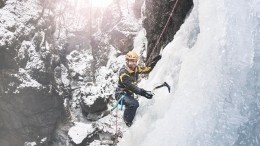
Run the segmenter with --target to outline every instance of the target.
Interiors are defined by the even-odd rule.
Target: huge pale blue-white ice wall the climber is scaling
[[[260,145],[259,131],[253,130],[259,124],[249,124],[259,123],[259,108],[250,108],[259,107],[256,5],[259,1],[194,1],[191,14],[140,85],[148,90],[167,81],[171,93],[162,88],[152,100],[142,99],[119,145]]]

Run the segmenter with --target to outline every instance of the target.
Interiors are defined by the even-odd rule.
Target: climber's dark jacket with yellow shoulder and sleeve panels
[[[137,87],[138,76],[140,73],[146,74],[152,70],[151,67],[140,67],[137,66],[135,71],[130,70],[128,67],[123,65],[119,70],[119,80],[117,92],[125,91],[128,94],[141,94],[141,88]]]

